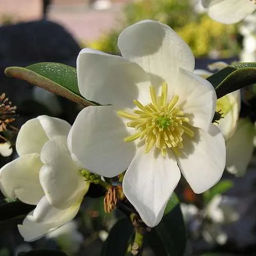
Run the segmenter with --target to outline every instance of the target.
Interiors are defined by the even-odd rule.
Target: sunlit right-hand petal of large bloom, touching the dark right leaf
[[[174,93],[189,123],[208,131],[215,114],[217,96],[214,87],[206,79],[184,69],[179,69],[179,81]]]

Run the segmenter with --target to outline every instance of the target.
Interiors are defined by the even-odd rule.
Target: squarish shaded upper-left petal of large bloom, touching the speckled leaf
[[[133,100],[143,98],[150,86],[146,72],[136,63],[89,48],[77,57],[77,79],[83,97],[119,108],[132,108]]]

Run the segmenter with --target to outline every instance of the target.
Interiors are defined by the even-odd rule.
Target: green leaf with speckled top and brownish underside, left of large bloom
[[[26,68],[5,69],[8,77],[22,79],[83,106],[93,103],[84,99],[78,90],[76,69],[61,63],[41,62]]]

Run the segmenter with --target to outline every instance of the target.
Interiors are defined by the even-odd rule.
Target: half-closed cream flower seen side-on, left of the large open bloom
[[[89,183],[68,151],[70,127],[49,116],[27,121],[16,140],[19,157],[0,169],[0,188],[6,197],[37,205],[18,225],[25,241],[72,220],[88,190]]]

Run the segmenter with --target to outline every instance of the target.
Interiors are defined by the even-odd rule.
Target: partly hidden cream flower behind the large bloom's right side
[[[212,73],[195,70],[194,73],[208,77]],[[253,153],[254,124],[247,118],[240,118],[241,93],[235,91],[217,100],[216,111],[222,113],[218,123],[226,140],[226,169],[229,173],[243,176]]]

